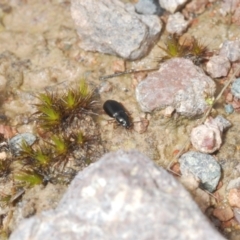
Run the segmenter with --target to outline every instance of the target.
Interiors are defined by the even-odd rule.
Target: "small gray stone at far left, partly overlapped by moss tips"
[[[23,141],[31,146],[37,140],[36,136],[32,133],[21,133],[9,140],[9,147],[14,155],[19,155]]]

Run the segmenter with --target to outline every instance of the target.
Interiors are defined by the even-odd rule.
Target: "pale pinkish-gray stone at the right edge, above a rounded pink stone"
[[[240,40],[226,40],[220,49],[219,55],[227,57],[231,62],[240,60]]]

